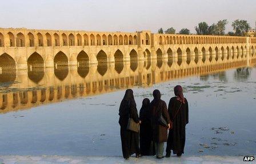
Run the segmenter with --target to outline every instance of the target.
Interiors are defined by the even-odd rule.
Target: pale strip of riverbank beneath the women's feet
[[[254,155],[255,157],[255,155]],[[182,156],[156,159],[155,157],[141,157],[125,160],[120,156],[58,156],[58,155],[42,155],[42,156],[20,156],[6,155],[0,156],[1,164],[50,164],[50,163],[243,163],[243,156]],[[256,163],[256,161],[248,162]]]

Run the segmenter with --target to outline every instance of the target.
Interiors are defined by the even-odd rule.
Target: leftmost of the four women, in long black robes
[[[138,111],[134,101],[133,90],[127,89],[119,107],[119,125],[121,126],[121,142],[123,158],[128,159],[136,153],[139,157],[139,133],[127,130],[129,115],[136,123],[139,123]]]

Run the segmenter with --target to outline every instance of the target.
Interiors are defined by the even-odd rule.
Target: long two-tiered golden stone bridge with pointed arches
[[[255,56],[256,38],[0,29],[0,71],[164,59],[179,66]],[[248,53],[248,55],[246,55]]]

